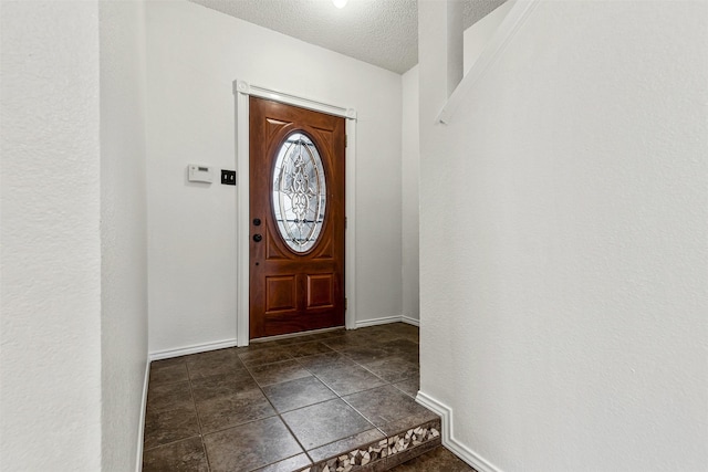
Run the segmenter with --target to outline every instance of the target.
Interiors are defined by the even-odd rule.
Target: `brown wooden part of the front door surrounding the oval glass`
[[[250,338],[343,326],[345,120],[252,96],[249,111]],[[324,223],[304,253],[283,240],[271,203],[278,151],[295,132],[316,146],[326,180]]]

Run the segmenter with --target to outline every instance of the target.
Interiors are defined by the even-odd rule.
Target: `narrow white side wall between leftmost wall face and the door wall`
[[[147,359],[145,15],[101,2],[102,462],[135,468]]]

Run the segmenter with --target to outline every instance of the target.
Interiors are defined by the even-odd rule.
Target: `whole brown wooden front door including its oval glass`
[[[250,338],[344,325],[344,118],[251,96]]]

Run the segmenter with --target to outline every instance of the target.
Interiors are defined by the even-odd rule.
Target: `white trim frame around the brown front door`
[[[244,81],[233,81],[236,99],[236,343],[249,344],[249,97],[256,96],[299,106],[345,118],[345,195],[344,212],[344,296],[346,305],[344,323],[347,329],[356,328],[356,111],[304,98],[272,88],[257,86]]]

